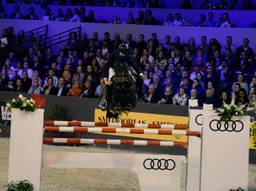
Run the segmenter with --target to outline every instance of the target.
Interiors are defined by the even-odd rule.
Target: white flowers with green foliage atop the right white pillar
[[[222,108],[217,109],[221,121],[230,121],[233,116],[242,116],[246,112],[246,105],[224,104]]]

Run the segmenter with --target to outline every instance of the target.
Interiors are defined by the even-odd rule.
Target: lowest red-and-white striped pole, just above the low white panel
[[[127,140],[127,139],[81,139],[81,138],[53,138],[44,137],[45,144],[101,144],[101,145],[137,145],[160,147],[186,147],[186,142],[155,141],[155,140]]]

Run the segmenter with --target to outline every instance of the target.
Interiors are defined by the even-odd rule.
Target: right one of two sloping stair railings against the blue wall
[[[79,26],[48,37],[47,46],[50,47],[66,43],[70,39],[70,33],[72,32],[77,34],[77,40],[81,40],[82,27]]]

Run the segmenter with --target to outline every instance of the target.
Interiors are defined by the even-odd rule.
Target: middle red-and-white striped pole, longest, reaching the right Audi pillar
[[[176,136],[197,136],[199,131],[171,130],[171,129],[138,129],[138,128],[111,128],[111,127],[60,127],[46,126],[45,131],[69,132],[69,133],[126,133],[126,134],[155,134],[155,135],[176,135]]]

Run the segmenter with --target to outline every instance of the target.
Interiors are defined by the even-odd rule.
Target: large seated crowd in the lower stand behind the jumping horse
[[[78,40],[72,32],[66,48],[57,54],[51,47],[40,47],[35,39],[25,49],[23,32],[14,34],[13,28],[3,31],[9,45],[0,48],[0,90],[56,96],[100,97],[104,87],[102,72],[111,54],[124,42],[129,56],[143,71],[143,83],[138,86],[139,101],[156,104],[186,105],[188,99],[198,99],[199,105],[215,107],[233,100],[236,104],[256,101],[256,57],[248,38],[234,47],[231,36],[226,43],[201,37],[196,44],[193,37],[183,43],[179,36],[156,33],[150,39],[143,34],[134,40],[120,34],[98,33],[82,35]]]

